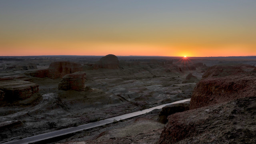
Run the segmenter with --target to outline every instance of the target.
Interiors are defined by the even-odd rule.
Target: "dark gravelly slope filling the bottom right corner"
[[[172,114],[157,144],[252,144],[256,97]]]

